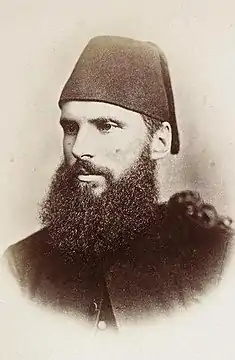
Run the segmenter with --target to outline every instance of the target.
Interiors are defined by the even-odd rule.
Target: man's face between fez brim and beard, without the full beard
[[[102,102],[67,102],[60,123],[65,163],[83,163],[78,181],[95,195],[122,179],[149,141],[141,115]]]

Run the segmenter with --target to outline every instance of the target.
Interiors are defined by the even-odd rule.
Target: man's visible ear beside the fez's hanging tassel
[[[151,143],[151,157],[153,160],[158,160],[171,151],[172,142],[172,130],[170,124],[165,121],[161,124],[161,127],[156,130],[153,135]]]

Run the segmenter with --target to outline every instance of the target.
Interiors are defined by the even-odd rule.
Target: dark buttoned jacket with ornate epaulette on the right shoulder
[[[68,262],[49,244],[47,228],[10,246],[4,257],[22,291],[45,306],[76,312],[92,325],[146,320],[216,285],[233,238],[231,220],[196,193],[177,193],[159,209],[160,224],[108,266],[79,256]]]

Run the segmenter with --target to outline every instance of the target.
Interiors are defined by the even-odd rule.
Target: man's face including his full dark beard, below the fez
[[[117,253],[156,220],[158,184],[142,117],[94,102],[63,105],[64,162],[40,218],[52,245],[85,259]]]

